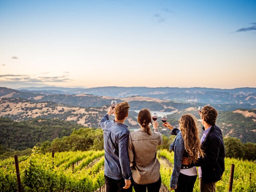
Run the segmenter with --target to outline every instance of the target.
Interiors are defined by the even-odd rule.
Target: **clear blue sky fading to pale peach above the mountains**
[[[0,87],[256,87],[255,0],[0,0]]]

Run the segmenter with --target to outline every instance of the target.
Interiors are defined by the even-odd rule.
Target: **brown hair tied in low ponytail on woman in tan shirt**
[[[139,124],[146,130],[148,135],[151,135],[149,124],[152,123],[151,114],[148,109],[141,109],[138,114]]]

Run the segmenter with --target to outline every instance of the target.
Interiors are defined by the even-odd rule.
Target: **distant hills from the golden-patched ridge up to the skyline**
[[[22,98],[35,102],[50,101],[76,107],[102,107],[110,105],[111,100],[129,101],[132,110],[149,108],[154,111],[166,112],[175,112],[206,104],[223,111],[256,108],[256,88],[222,90],[168,87],[97,87],[89,89],[42,87],[40,89],[30,87],[14,90],[0,87],[0,97]]]

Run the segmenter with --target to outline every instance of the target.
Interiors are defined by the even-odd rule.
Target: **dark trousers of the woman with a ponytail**
[[[161,175],[160,175],[158,181],[156,181],[155,183],[142,185],[142,184],[135,183],[133,181],[133,179],[131,179],[131,181],[132,181],[132,185],[133,185],[135,192],[146,192],[147,189],[148,189],[148,192],[159,192],[161,183],[162,183]]]

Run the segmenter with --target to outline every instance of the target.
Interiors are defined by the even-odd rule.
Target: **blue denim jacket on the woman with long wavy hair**
[[[175,189],[180,174],[182,156],[185,151],[185,146],[181,131],[179,129],[174,128],[171,131],[171,134],[176,135],[173,143],[170,145],[170,150],[174,151],[174,167],[172,171],[170,187]]]

